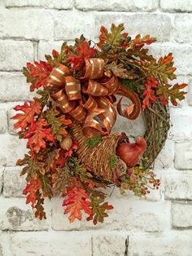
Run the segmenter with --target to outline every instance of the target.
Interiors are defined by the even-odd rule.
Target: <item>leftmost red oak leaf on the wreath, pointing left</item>
[[[14,124],[14,129],[20,128],[21,130],[24,130],[28,124],[31,123],[34,115],[41,113],[41,104],[39,104],[37,100],[32,100],[29,101],[29,104],[25,102],[24,105],[17,105],[14,109],[16,111],[23,112],[16,114],[14,117],[11,117],[11,119],[18,120]]]

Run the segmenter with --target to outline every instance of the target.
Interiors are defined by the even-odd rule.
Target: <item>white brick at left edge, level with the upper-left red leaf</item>
[[[17,101],[32,99],[29,85],[22,73],[0,73],[0,101]]]

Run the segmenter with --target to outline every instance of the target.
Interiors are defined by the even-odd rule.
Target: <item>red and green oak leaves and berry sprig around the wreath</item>
[[[74,77],[81,77],[85,60],[102,58],[105,61],[105,74],[119,77],[120,82],[135,91],[142,102],[142,110],[151,108],[158,100],[161,104],[184,99],[182,91],[186,84],[171,85],[176,78],[172,53],[159,60],[149,54],[146,45],[155,42],[149,35],[138,34],[131,38],[123,33],[124,25],[111,25],[111,32],[101,27],[99,42],[91,46],[83,36],[76,39],[74,46],[63,42],[61,51],[52,51],[46,55],[46,61],[34,61],[24,68],[24,76],[30,85],[30,91],[36,90],[37,97],[18,105],[19,111],[12,119],[16,120],[15,129],[20,129],[20,139],[27,139],[28,154],[18,160],[18,166],[24,166],[21,175],[26,175],[27,186],[24,195],[31,203],[38,218],[46,218],[43,208],[44,197],[63,196],[65,213],[70,222],[81,220],[82,210],[88,214],[87,220],[94,224],[103,222],[107,210],[112,206],[105,202],[106,195],[98,188],[107,184],[94,177],[76,157],[76,140],[72,139],[70,148],[62,148],[63,138],[71,136],[73,119],[63,114],[51,95],[58,90],[47,82],[47,77],[56,64],[64,64],[72,70]],[[146,178],[148,177],[148,178]],[[132,190],[137,196],[146,195],[149,184],[159,187],[159,180],[150,170],[142,167],[129,171],[121,189]]]

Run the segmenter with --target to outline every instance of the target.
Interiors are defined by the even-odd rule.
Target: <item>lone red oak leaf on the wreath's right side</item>
[[[143,91],[143,95],[145,98],[142,100],[142,109],[146,109],[149,107],[150,100],[155,102],[155,90],[152,90],[151,88],[155,88],[158,85],[158,82],[155,78],[148,78],[145,83],[146,90]]]

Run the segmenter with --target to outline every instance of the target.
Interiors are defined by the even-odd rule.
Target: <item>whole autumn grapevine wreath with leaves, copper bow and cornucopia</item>
[[[70,222],[85,211],[87,220],[103,223],[113,207],[100,188],[116,185],[137,196],[159,188],[151,164],[168,135],[168,101],[184,99],[186,84],[169,84],[176,78],[172,53],[155,60],[143,47],[155,38],[132,39],[123,30],[124,24],[111,24],[111,32],[102,26],[99,42],[81,35],[24,68],[37,97],[16,106],[22,113],[12,119],[20,139],[28,139],[17,165],[24,166],[23,192],[37,218],[46,218],[44,197],[63,196]],[[132,104],[123,108],[122,97]],[[145,135],[130,143],[124,132],[111,133],[117,113],[129,120],[142,113]]]

